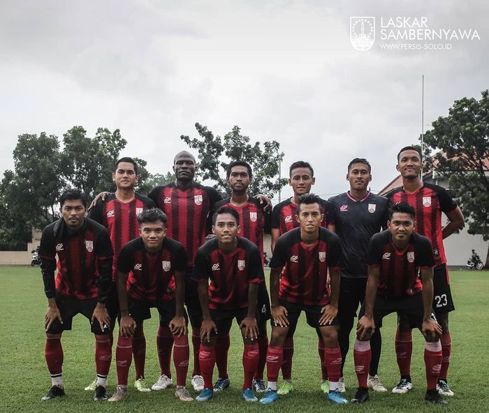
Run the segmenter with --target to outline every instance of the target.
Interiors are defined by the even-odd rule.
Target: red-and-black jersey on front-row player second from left
[[[117,270],[129,273],[127,293],[136,300],[168,301],[175,297],[175,271],[187,270],[180,242],[165,237],[159,252],[147,252],[143,238],[128,242],[117,259]]]

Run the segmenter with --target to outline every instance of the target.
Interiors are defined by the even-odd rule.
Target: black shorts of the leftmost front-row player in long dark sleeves
[[[92,323],[92,315],[94,314],[95,307],[98,303],[98,298],[89,298],[88,300],[79,300],[78,298],[64,296],[56,291],[56,305],[59,308],[61,324],[57,319],[53,321],[49,330],[46,333],[58,334],[65,330],[71,330],[73,324],[73,317],[76,314],[83,314],[91,323],[90,330],[94,334],[108,334],[110,333],[110,326],[101,330],[100,323],[94,320]]]

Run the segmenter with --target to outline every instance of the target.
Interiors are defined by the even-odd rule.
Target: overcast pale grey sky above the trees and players
[[[379,191],[396,176],[397,151],[421,133],[422,74],[425,129],[455,99],[480,99],[489,87],[488,4],[2,0],[0,174],[13,168],[18,135],[61,140],[74,125],[89,136],[120,129],[122,155],[166,173],[187,149],[180,135],[196,136],[200,122],[219,136],[238,125],[253,141],[278,140],[284,175],[293,161],[309,161],[313,189],[326,198],[348,189],[346,165],[366,157]],[[350,41],[350,17],[360,16],[375,17],[366,51]],[[480,40],[382,40],[391,17],[476,30]],[[385,49],[429,43],[450,50]]]

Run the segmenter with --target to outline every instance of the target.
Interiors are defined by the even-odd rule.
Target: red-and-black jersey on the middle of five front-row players
[[[192,278],[208,282],[209,308],[233,310],[248,307],[248,284],[264,280],[260,250],[253,242],[238,237],[238,246],[230,254],[219,249],[216,238],[198,249]]]

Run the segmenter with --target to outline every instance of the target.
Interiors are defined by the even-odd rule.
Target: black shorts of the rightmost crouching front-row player
[[[374,303],[374,323],[376,328],[381,328],[382,319],[386,315],[397,312],[405,315],[409,321],[411,328],[421,328],[424,319],[423,294],[418,293],[414,296],[401,298],[385,298],[382,296],[375,297]],[[360,308],[358,318],[360,319],[365,314],[365,302]]]

